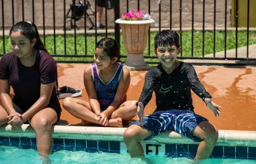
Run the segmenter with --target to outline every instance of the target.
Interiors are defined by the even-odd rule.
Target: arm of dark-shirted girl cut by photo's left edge
[[[13,108],[13,101],[10,98],[9,80],[0,80],[0,104],[6,110],[8,115],[16,113]]]

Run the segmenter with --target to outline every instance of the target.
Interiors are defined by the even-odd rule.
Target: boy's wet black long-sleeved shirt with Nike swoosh
[[[180,65],[169,75],[159,64],[146,73],[139,101],[146,106],[154,91],[157,103],[156,111],[168,109],[193,111],[191,89],[202,99],[211,98],[197,78],[197,73],[191,64],[180,62]]]

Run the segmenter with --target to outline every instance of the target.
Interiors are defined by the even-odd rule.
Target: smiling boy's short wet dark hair
[[[173,30],[163,30],[154,37],[154,49],[175,45],[180,47],[180,36]]]

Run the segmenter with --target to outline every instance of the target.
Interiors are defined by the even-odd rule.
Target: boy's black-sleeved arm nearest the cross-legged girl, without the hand
[[[157,72],[155,72],[154,69],[149,70],[145,75],[145,83],[142,89],[142,93],[140,95],[140,99],[138,101],[143,104],[144,108],[148,104],[149,100],[151,100],[152,98],[156,78]]]

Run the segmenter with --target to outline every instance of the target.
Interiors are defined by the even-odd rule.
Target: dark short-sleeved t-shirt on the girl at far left
[[[15,94],[13,102],[26,111],[40,97],[41,83],[53,83],[57,79],[56,61],[41,51],[33,66],[24,66],[14,52],[7,53],[0,61],[0,79],[9,80]],[[60,109],[56,87],[51,93],[50,104]]]

